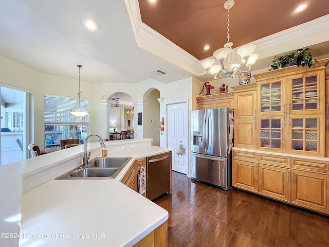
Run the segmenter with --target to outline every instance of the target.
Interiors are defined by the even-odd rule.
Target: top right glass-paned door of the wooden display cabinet
[[[288,76],[287,85],[289,114],[324,113],[323,71]]]

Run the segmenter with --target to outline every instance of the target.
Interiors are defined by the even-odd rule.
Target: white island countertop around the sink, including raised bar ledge
[[[1,186],[0,193],[7,199],[0,209],[1,232],[20,233],[20,246],[132,246],[137,243],[168,219],[168,211],[126,187],[120,183],[120,179],[136,158],[168,152],[171,149],[155,146],[138,148],[137,143],[131,144],[136,145],[136,148],[122,151],[113,148],[112,151],[114,142],[106,143],[108,156],[132,157],[114,180],[54,180],[54,177],[27,190],[22,197],[15,194],[17,190],[21,193],[20,185],[8,190]],[[5,179],[5,173],[8,175],[8,172],[14,172],[15,169],[16,174],[24,177],[35,171],[49,169],[49,166],[53,173],[53,168],[62,161],[72,161],[72,158],[81,160],[83,148],[70,149],[8,166],[7,171],[0,170],[0,177]],[[94,150],[98,153],[96,156],[101,154],[99,143],[89,144],[88,150]],[[48,165],[44,166],[46,161]],[[31,167],[27,168],[29,165]],[[72,167],[69,167],[66,171],[71,169]],[[62,173],[63,170],[56,177]],[[6,181],[8,186],[10,179]],[[14,179],[14,182],[18,181],[19,179]],[[9,184],[14,185],[14,182]],[[6,183],[0,180],[0,184]],[[10,195],[10,192],[15,193]],[[20,205],[17,205],[17,202]],[[4,208],[7,208],[9,213]],[[22,218],[21,231],[16,227],[19,214]],[[15,239],[8,241],[7,238],[0,238],[0,246],[18,246],[17,236],[9,237]]]

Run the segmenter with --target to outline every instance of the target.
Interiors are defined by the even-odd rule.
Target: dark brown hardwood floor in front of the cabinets
[[[172,177],[172,195],[155,201],[169,211],[169,246],[329,246],[329,217],[177,172]]]

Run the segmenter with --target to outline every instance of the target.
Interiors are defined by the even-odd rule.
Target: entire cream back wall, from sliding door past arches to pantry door
[[[151,88],[157,89],[160,92],[160,97],[163,98],[163,102],[160,103],[159,119],[153,119],[154,125],[157,125],[158,128],[160,119],[165,117],[166,120],[166,103],[188,100],[188,111],[192,110],[192,101],[195,101],[195,97],[197,96],[195,93],[199,90],[200,85],[203,84],[192,78],[186,78],[169,84],[153,79],[148,79],[138,84],[95,84],[83,81],[83,77],[81,79],[82,95],[90,101],[90,133],[104,135],[104,138],[107,135],[106,121],[108,107],[106,107],[106,102],[104,101],[103,104],[100,104],[102,101],[100,98],[101,95],[106,94],[109,96],[116,92],[125,92],[135,100],[135,103],[140,103],[139,105],[141,107],[138,106],[138,108],[142,109],[143,96],[148,95],[145,93]],[[44,94],[76,98],[79,86],[78,73],[77,79],[43,74],[4,57],[0,57],[0,83],[6,83],[4,86],[34,94],[34,142],[41,148],[44,145]],[[135,113],[134,126],[137,129],[138,110],[135,110]],[[117,123],[120,124],[120,121]],[[166,147],[166,132],[163,132],[162,135],[160,131],[158,133],[160,146]],[[142,131],[141,134],[143,134]],[[97,139],[91,138],[90,141],[96,142]]]

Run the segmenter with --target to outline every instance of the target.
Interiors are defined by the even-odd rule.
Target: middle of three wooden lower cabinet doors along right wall
[[[289,170],[259,164],[258,191],[281,201],[290,201]]]

